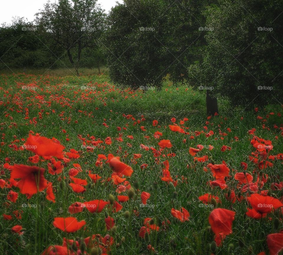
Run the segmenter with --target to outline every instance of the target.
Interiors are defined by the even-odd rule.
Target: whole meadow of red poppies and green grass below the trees
[[[0,76],[0,254],[281,254],[283,108],[163,81]]]

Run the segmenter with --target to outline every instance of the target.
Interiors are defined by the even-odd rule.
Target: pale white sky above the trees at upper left
[[[43,5],[48,0],[0,0],[0,25],[4,22],[10,24],[13,17],[24,17],[28,21],[34,20],[34,14],[38,12],[39,9],[43,8]],[[54,3],[58,0],[50,0]],[[122,0],[98,0],[97,3],[101,4],[102,9],[106,12],[110,11],[111,7],[116,5],[116,2],[123,3]]]

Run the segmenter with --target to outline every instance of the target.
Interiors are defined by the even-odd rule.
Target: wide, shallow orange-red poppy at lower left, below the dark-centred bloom
[[[53,221],[53,226],[55,226],[55,228],[59,228],[60,230],[65,231],[67,233],[73,233],[82,228],[84,225],[85,221],[78,221],[74,217],[57,217],[54,218]]]

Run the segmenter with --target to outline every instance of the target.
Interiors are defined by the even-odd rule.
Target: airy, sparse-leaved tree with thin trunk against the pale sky
[[[105,30],[105,17],[97,0],[59,0],[58,4],[45,4],[37,18],[37,25],[50,45],[59,46],[67,52],[79,75],[82,50],[99,47],[99,38]]]

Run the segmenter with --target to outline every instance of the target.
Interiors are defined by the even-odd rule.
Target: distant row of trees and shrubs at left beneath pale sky
[[[106,65],[101,50],[106,14],[92,0],[45,4],[34,22],[24,18],[0,28],[0,69]]]

